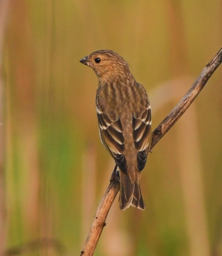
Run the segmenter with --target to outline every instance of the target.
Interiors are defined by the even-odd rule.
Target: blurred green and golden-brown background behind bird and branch
[[[79,255],[114,161],[79,63],[111,49],[153,129],[222,45],[220,0],[0,2],[0,255]],[[95,256],[222,255],[222,68],[149,154],[144,211],[118,196]]]

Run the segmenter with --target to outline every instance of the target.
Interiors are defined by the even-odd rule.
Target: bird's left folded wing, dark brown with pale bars
[[[127,172],[127,161],[123,154],[125,140],[123,127],[118,115],[108,115],[102,112],[97,104],[99,134],[104,146],[110,152],[115,162],[123,172]]]

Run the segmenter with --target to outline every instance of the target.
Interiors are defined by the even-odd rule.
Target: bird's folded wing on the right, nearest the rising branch
[[[145,108],[141,108],[140,113],[133,116],[133,141],[138,150],[137,168],[142,171],[151,142],[151,110],[148,99],[146,99]]]

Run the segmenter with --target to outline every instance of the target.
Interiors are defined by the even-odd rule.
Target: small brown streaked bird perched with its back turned
[[[127,62],[111,50],[92,52],[81,63],[99,79],[96,110],[99,133],[120,174],[120,209],[144,209],[140,173],[151,141],[151,110],[145,88],[136,82]]]

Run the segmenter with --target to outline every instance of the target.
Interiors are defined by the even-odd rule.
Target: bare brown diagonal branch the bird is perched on
[[[182,100],[176,105],[176,107],[170,112],[170,114],[162,121],[161,124],[153,131],[151,147],[152,149],[157,142],[169,131],[169,129],[176,123],[176,121],[184,114],[187,108],[195,100],[197,95],[206,85],[206,82],[212,76],[214,71],[222,63],[222,48],[213,57],[213,59],[206,64],[206,67],[200,73],[200,76],[196,79],[192,87],[188,90]],[[111,205],[119,192],[120,184],[116,180],[108,185],[108,188],[99,204],[97,212],[94,216],[93,224],[90,232],[87,236],[81,255],[91,256],[95,251],[99,237],[102,233],[103,227],[106,225],[106,217],[111,208]]]

